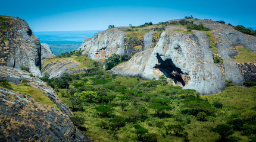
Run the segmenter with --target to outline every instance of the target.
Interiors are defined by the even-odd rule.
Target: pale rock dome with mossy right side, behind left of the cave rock
[[[154,28],[140,28],[135,32],[127,27],[110,28],[92,38],[86,38],[76,51],[85,50],[82,54],[93,60],[106,59],[113,54],[132,57],[139,51],[155,46],[160,32],[155,32]]]

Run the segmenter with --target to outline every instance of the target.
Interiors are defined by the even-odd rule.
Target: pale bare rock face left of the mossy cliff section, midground
[[[82,46],[77,50],[85,50],[82,55],[90,57],[90,59],[105,59],[112,54],[124,54],[124,37],[127,33],[118,30],[118,28],[110,28],[94,35],[92,38],[86,38]]]

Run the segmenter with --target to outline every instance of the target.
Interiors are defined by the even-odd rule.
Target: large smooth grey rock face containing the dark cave
[[[173,20],[170,22],[179,22]],[[193,30],[186,34],[185,28],[168,26],[161,33],[160,40],[150,54],[150,50],[136,54],[129,62],[114,67],[111,72],[117,75],[141,76],[154,79],[161,75],[174,80],[185,89],[196,89],[202,94],[217,93],[224,89],[225,81],[242,85],[246,79],[255,80],[255,63],[236,63],[236,46],[243,46],[256,53],[256,37],[242,34],[233,27],[210,20],[191,20],[193,24],[203,24],[211,29],[210,35]],[[210,50],[208,37],[213,37],[218,53]],[[149,57],[150,56],[150,57]],[[223,64],[213,62],[220,56]]]

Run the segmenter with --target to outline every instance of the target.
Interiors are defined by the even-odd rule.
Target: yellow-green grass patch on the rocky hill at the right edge
[[[238,55],[233,57],[236,63],[243,63],[243,62],[256,63],[255,61],[256,54],[254,54],[252,51],[250,51],[246,47],[237,46],[236,50],[238,51]]]

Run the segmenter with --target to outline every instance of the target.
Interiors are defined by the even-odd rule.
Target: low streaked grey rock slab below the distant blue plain
[[[63,60],[60,62],[49,63],[42,68],[42,74],[48,76],[48,78],[60,78],[65,75],[71,75],[73,73],[80,73],[86,70],[86,68],[79,67],[80,63],[71,62],[71,60]]]

